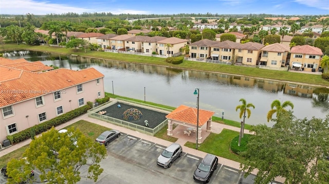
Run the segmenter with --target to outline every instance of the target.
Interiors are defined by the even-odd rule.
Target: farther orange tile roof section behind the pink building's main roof
[[[33,62],[30,63],[24,58],[21,59],[7,59],[0,57],[0,66],[6,66],[10,68],[15,68],[15,69],[22,69],[25,71],[47,71],[47,70],[52,70],[53,67],[49,67],[44,65],[42,62]]]

